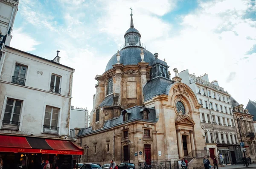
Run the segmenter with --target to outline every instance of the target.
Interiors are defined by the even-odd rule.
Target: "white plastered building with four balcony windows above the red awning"
[[[9,46],[2,51],[0,133],[68,137],[74,69],[58,56],[47,60]]]

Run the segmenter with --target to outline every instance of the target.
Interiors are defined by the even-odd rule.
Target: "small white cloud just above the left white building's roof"
[[[24,33],[22,28],[16,29],[12,35],[10,46],[25,52],[35,50],[35,46],[40,44],[40,42],[33,39],[31,35]]]

